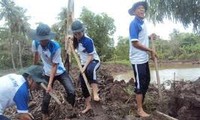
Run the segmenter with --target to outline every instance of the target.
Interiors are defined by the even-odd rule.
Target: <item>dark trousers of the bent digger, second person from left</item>
[[[45,80],[49,81],[49,76],[44,77]],[[52,87],[55,82],[55,80],[58,80],[64,87],[67,97],[65,96],[65,99],[74,106],[75,103],[75,89],[74,85],[72,83],[72,78],[69,76],[69,74],[65,71],[63,74],[55,76],[53,79]],[[43,101],[42,101],[42,113],[48,114],[48,108],[50,103],[51,96],[46,93],[46,91],[43,91]]]

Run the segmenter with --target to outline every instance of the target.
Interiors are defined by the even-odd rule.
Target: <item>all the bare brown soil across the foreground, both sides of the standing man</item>
[[[119,64],[102,64],[98,70],[100,102],[92,101],[93,109],[86,114],[80,114],[84,109],[84,98],[81,93],[80,83],[77,80],[79,70],[72,67],[70,75],[74,80],[76,87],[76,104],[72,108],[65,99],[65,91],[56,82],[54,92],[62,102],[58,105],[53,99],[50,103],[50,120],[169,120],[169,118],[160,116],[156,110],[178,119],[198,120],[200,116],[200,82],[173,84],[171,90],[162,89],[163,100],[159,101],[158,90],[150,85],[147,97],[145,98],[144,109],[151,113],[148,118],[140,118],[136,114],[135,94],[133,92],[134,79],[128,83],[115,81],[113,74],[130,71],[129,66]],[[198,81],[198,80],[197,80]],[[200,80],[199,80],[200,81]],[[195,86],[195,87],[194,87]],[[35,120],[41,120],[41,102],[42,90],[33,92],[30,112]],[[14,107],[7,109],[5,114],[15,119],[16,110]]]

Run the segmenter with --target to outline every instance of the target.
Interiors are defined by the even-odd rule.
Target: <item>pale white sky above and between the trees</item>
[[[79,18],[83,6],[95,14],[106,13],[115,20],[116,33],[118,36],[128,37],[128,27],[133,16],[128,14],[128,9],[138,0],[74,0],[75,19]],[[14,0],[17,6],[27,9],[27,16],[31,16],[29,23],[36,28],[37,22],[52,25],[57,22],[57,16],[63,7],[67,7],[68,0]],[[182,24],[165,20],[162,24],[153,25],[148,22],[148,33],[156,33],[162,39],[169,39],[173,29],[180,32],[192,32],[192,29],[184,29]]]

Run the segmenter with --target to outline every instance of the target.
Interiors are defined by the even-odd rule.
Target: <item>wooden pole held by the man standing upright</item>
[[[150,38],[151,38],[151,43],[152,43],[152,49],[154,51],[156,51],[155,45],[154,45],[153,35],[151,35]],[[157,84],[158,84],[159,99],[160,99],[160,101],[162,101],[163,97],[162,97],[162,93],[161,93],[160,76],[159,76],[159,71],[158,71],[158,59],[157,58],[155,58],[155,60],[154,60],[154,65],[155,65],[155,70],[156,70],[156,78],[157,78]]]

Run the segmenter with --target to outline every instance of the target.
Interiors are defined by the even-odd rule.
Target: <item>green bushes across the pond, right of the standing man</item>
[[[199,60],[200,36],[174,32],[170,41],[157,40],[156,51],[160,60]]]

